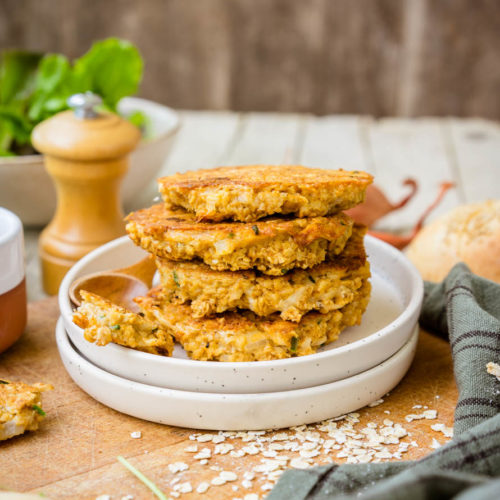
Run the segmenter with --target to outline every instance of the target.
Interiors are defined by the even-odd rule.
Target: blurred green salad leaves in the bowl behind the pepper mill
[[[72,64],[62,54],[5,51],[0,59],[0,156],[29,147],[33,127],[68,108],[78,92],[101,96],[103,107],[117,112],[123,97],[137,93],[144,63],[130,42],[95,42]],[[137,111],[126,117],[145,132],[148,118]]]

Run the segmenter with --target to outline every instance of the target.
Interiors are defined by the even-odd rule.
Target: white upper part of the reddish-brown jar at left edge
[[[0,207],[0,295],[24,278],[23,226],[19,217]]]

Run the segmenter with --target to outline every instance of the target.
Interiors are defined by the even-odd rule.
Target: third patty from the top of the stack
[[[355,226],[344,251],[331,261],[283,276],[249,271],[213,271],[199,262],[157,259],[161,294],[166,301],[188,302],[200,318],[232,309],[248,309],[259,316],[279,312],[300,321],[309,311],[328,313],[352,302],[370,276],[363,245],[365,228]]]

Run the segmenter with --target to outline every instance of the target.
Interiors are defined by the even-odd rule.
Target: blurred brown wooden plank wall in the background
[[[498,0],[0,0],[0,49],[108,36],[185,109],[500,118]]]

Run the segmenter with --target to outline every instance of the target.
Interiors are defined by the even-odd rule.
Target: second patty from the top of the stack
[[[153,205],[127,217],[134,243],[170,260],[200,259],[216,271],[256,268],[279,276],[306,269],[339,254],[352,233],[345,214],[292,219],[272,217],[253,223],[198,222],[186,212]]]

